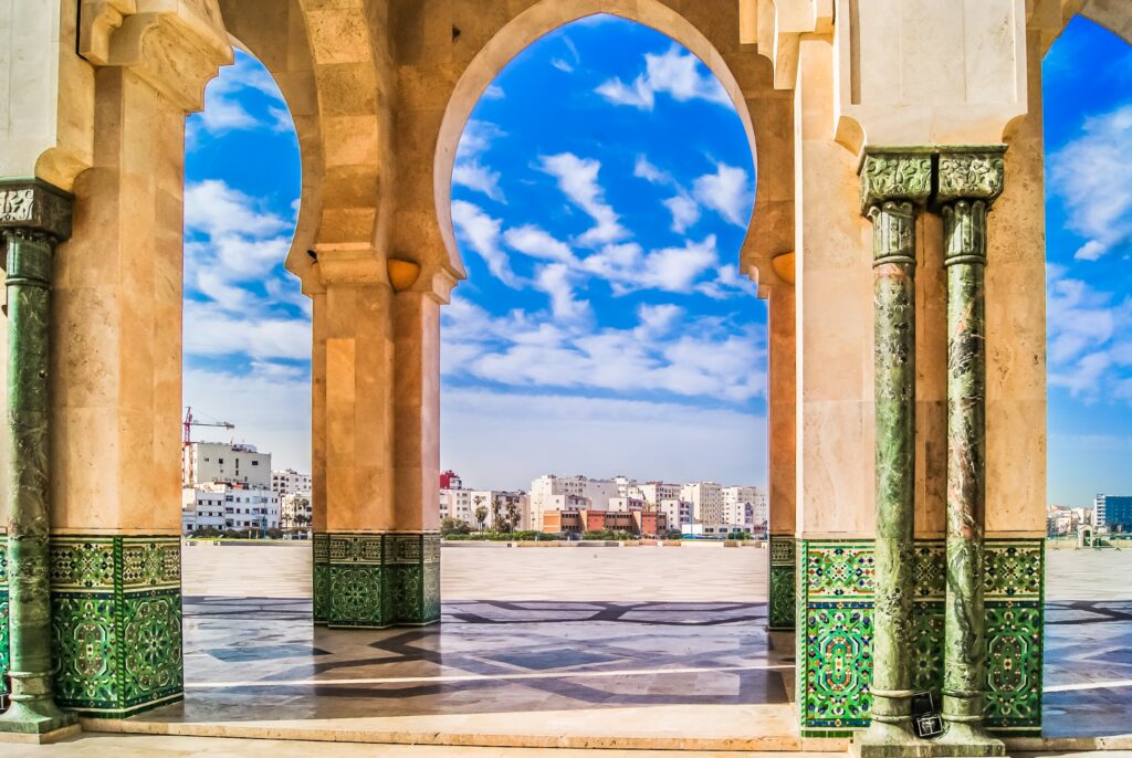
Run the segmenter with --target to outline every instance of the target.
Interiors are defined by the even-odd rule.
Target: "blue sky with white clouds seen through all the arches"
[[[1084,505],[1132,491],[1132,49],[1074,20],[1044,67],[1049,497]],[[187,150],[186,404],[308,470],[309,303],[282,265],[298,145],[251,58]],[[441,464],[475,486],[765,484],[765,308],[735,268],[754,182],[732,106],[668,37],[594,17],[516,57],[456,161]]]

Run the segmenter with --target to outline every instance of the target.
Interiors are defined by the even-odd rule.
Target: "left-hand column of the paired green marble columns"
[[[873,712],[863,755],[889,755],[911,731],[912,534],[916,482],[916,215],[932,188],[932,156],[874,152],[861,170],[873,222],[876,546]]]

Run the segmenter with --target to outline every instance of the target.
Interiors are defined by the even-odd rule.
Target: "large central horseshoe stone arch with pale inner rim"
[[[788,252],[794,241],[792,93],[775,91],[770,62],[740,48],[734,34],[737,3],[705,0],[680,6],[680,10],[672,7],[678,5],[671,0],[539,0],[520,12],[489,15],[471,33],[454,24],[454,34],[462,29],[461,36],[474,35],[480,43],[465,50],[466,58],[457,63],[437,67],[426,51],[414,55],[417,51],[410,50],[409,57],[418,60],[400,67],[397,255],[418,260],[426,269],[463,278],[451,217],[452,169],[472,109],[496,75],[528,45],[565,24],[604,12],[683,44],[730,95],[752,145],[757,180],[754,215],[736,262],[755,278],[760,270],[770,272],[770,259]],[[423,26],[422,20],[412,20]],[[406,160],[411,167],[405,166]],[[426,162],[429,171],[422,167]],[[760,233],[753,234],[756,227]]]

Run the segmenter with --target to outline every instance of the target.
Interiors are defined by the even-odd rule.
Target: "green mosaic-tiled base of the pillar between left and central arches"
[[[315,540],[317,623],[380,629],[440,619],[439,534],[332,532]]]

